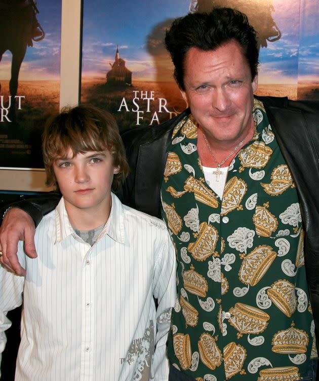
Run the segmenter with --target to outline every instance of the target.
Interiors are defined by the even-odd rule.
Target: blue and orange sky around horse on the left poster
[[[19,80],[58,80],[60,76],[62,0],[37,0],[39,13],[36,15],[46,33],[44,40],[33,42],[28,47],[21,65]],[[11,52],[6,51],[0,62],[0,79],[10,79]]]

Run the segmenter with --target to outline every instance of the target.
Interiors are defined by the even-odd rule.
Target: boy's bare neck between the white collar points
[[[73,229],[89,231],[104,225],[110,215],[111,201],[111,198],[103,200],[94,209],[79,209],[64,199],[66,213]]]

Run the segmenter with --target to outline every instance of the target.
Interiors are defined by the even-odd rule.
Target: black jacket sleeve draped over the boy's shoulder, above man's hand
[[[61,194],[59,192],[48,192],[39,194],[34,197],[26,198],[21,201],[13,202],[5,206],[1,211],[1,216],[5,213],[6,209],[10,207],[18,207],[24,212],[28,213],[34,221],[35,226],[39,224],[43,216],[53,211],[59,203]]]

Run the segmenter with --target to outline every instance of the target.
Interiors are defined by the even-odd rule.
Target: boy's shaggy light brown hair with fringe
[[[79,105],[66,107],[61,113],[47,119],[42,136],[42,150],[48,186],[58,186],[53,163],[59,157],[65,157],[69,149],[72,150],[73,157],[88,151],[109,150],[113,156],[113,166],[120,168],[113,178],[113,191],[128,176],[129,165],[122,138],[115,119],[107,111],[91,105]]]

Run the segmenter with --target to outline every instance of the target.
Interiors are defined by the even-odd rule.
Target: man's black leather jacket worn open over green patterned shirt
[[[257,97],[266,109],[278,145],[296,184],[305,230],[304,254],[310,302],[319,346],[319,103],[288,98]],[[159,125],[126,132],[131,173],[118,193],[122,201],[142,212],[161,217],[160,191],[167,156],[176,124],[189,109]],[[37,224],[54,209],[60,195],[20,201]]]

